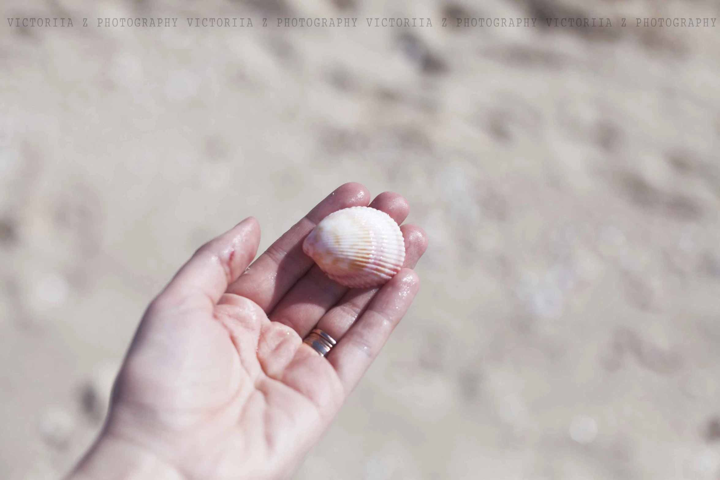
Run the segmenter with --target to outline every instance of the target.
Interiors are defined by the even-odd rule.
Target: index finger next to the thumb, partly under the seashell
[[[315,225],[336,210],[367,207],[369,203],[370,193],[364,185],[348,183],[339,186],[270,245],[246,273],[228,286],[228,293],[251,299],[269,314],[312,267],[314,262],[302,251],[302,241]]]

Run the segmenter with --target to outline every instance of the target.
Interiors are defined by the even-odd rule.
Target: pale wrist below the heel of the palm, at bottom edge
[[[102,435],[66,480],[186,480],[138,445]]]

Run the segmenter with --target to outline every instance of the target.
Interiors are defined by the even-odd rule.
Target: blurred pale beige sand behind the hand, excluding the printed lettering
[[[145,305],[197,246],[254,215],[266,248],[346,181],[407,196],[431,246],[297,480],[720,478],[720,25],[361,23],[716,2],[0,10],[360,19],[0,29],[0,479],[76,461]]]

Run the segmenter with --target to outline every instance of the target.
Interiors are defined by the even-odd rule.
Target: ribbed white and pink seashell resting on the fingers
[[[325,217],[302,243],[302,251],[338,284],[382,285],[405,261],[405,240],[395,220],[371,207],[350,207]]]

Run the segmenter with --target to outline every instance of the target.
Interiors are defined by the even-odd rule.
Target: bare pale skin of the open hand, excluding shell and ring
[[[398,225],[409,212],[398,194],[371,203],[344,184],[254,262],[253,217],[197,250],[146,310],[102,433],[68,480],[292,476],[419,288],[427,240],[414,225],[400,227],[405,266],[383,286],[346,289],[302,253],[323,217],[358,205]],[[324,358],[302,343],[316,327],[338,340]]]

